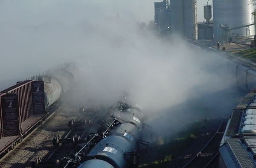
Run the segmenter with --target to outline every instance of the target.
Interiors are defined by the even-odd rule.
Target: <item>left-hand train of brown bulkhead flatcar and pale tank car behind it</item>
[[[74,84],[70,71],[75,64],[61,64],[0,91],[0,159],[55,110]]]

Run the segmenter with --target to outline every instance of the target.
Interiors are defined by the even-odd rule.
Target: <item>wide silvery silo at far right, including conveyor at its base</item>
[[[254,36],[254,6],[250,0],[213,0],[212,3],[214,41]]]

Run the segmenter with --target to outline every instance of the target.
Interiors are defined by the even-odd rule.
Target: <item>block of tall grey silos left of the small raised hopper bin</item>
[[[155,25],[160,35],[172,32],[191,40],[198,39],[196,0],[155,2]]]

